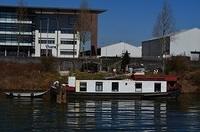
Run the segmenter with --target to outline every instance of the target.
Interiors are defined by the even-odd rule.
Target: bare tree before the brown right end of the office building
[[[76,29],[80,40],[80,52],[82,52],[82,56],[84,56],[85,46],[91,41],[91,32],[93,30],[92,13],[88,8],[87,0],[82,0],[81,2]]]

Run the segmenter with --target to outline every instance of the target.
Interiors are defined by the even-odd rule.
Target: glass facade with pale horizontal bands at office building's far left
[[[32,24],[17,21],[17,13],[0,12],[1,43],[32,43]],[[28,33],[29,35],[25,35]]]

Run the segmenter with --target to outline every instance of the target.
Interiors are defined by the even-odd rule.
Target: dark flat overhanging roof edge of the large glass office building
[[[28,10],[45,10],[45,11],[53,11],[53,12],[79,12],[80,8],[65,8],[65,7],[42,7],[42,6],[25,6]],[[19,6],[17,5],[0,5],[0,9],[17,9]],[[103,9],[92,9],[90,8],[89,11],[100,14],[105,12],[106,10]]]

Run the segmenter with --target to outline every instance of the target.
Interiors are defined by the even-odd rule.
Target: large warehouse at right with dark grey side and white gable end
[[[163,39],[164,38],[164,39]],[[142,42],[144,59],[159,59],[163,55],[188,56],[200,51],[200,29],[193,28],[166,35],[163,38],[152,38]],[[165,40],[165,44],[163,44]]]

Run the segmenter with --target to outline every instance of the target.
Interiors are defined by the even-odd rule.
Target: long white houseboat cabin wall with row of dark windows
[[[77,80],[76,92],[153,93],[166,92],[166,81]]]

